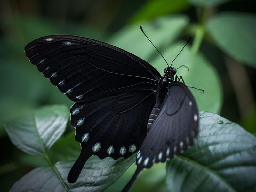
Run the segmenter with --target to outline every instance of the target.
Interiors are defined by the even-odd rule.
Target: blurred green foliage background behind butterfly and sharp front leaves
[[[188,64],[190,72],[180,69],[179,75],[187,85],[205,90],[204,95],[192,90],[197,102],[201,99],[199,109],[219,113],[256,133],[254,11],[254,1],[248,0],[1,0],[1,191],[8,191],[24,174],[44,165],[43,159],[28,156],[12,145],[4,122],[43,105],[72,105],[29,63],[23,52],[28,42],[51,34],[84,36],[124,48],[163,73],[164,60],[139,25],[169,63],[192,36],[192,53],[184,50],[174,66]],[[74,134],[70,124],[65,134],[69,133]],[[79,148],[73,137],[69,138]],[[119,191],[133,170],[129,168],[107,190]],[[164,164],[158,164],[143,172],[132,190],[141,191],[144,184],[145,190],[165,191],[164,178]]]

